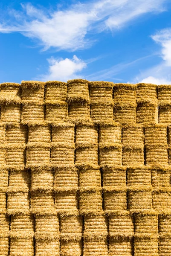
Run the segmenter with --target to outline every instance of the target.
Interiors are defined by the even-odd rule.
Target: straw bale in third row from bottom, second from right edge
[[[152,207],[151,191],[144,190],[130,190],[128,192],[128,209],[130,212],[143,212],[150,210]]]

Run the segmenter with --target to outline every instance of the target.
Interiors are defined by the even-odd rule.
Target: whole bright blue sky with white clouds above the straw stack
[[[171,84],[170,0],[0,2],[0,82]]]

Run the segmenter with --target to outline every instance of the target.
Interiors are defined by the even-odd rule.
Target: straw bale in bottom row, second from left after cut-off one
[[[33,238],[11,238],[9,256],[34,256]]]

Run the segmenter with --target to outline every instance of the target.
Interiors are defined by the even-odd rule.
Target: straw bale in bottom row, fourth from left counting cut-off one
[[[61,241],[60,256],[81,256],[82,241]],[[42,255],[43,256],[43,255]]]

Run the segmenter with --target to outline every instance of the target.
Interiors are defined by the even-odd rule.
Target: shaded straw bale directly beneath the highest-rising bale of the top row
[[[68,121],[76,124],[90,122],[90,104],[71,102],[68,106]]]

